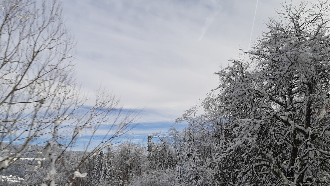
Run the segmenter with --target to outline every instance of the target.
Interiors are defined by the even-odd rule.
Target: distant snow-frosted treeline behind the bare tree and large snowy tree
[[[123,143],[116,148],[107,146],[84,161],[79,170],[75,168],[81,163],[83,152],[66,152],[63,163],[56,166],[56,183],[66,185],[74,177],[73,186],[216,185],[221,178],[214,168],[220,168],[216,157],[226,119],[215,114],[215,100],[211,95],[205,99],[202,115],[198,115],[197,106],[186,110],[175,121],[187,123],[184,130],[173,125],[167,133],[154,133],[148,136],[147,146],[135,143]],[[28,157],[42,156],[34,152]],[[39,167],[38,161],[18,160],[4,169],[2,175],[24,178],[20,183],[8,182],[8,185],[37,185],[47,177],[49,167],[48,160],[40,160]]]

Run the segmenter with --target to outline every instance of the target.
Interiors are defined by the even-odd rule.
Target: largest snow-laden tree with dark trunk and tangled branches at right
[[[230,113],[217,161],[228,185],[329,185],[329,5],[283,4],[278,15],[250,60],[217,73]]]

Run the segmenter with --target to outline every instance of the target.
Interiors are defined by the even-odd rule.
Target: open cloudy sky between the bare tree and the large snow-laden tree
[[[123,108],[143,109],[131,140],[145,144],[218,86],[214,73],[229,59],[248,59],[242,50],[282,2],[66,0],[63,17],[77,42],[78,82],[89,97],[105,87]]]

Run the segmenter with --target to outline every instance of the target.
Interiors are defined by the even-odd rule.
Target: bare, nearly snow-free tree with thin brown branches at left
[[[85,153],[66,180],[72,183],[84,176],[82,162],[127,134],[136,112],[122,114],[118,100],[105,91],[97,91],[95,105],[84,105],[86,97],[74,78],[74,43],[59,0],[5,0],[0,9],[0,171],[33,144],[43,145],[50,162],[43,184],[54,185],[55,165],[65,166],[65,151],[87,132]],[[89,151],[103,124],[110,124],[108,133]]]

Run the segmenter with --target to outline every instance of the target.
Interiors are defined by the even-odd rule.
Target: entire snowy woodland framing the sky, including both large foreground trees
[[[283,3],[243,51],[248,59],[229,60],[215,73],[218,87],[147,146],[123,141],[137,110],[124,111],[104,90],[86,106],[60,1],[1,6],[0,185],[330,185],[326,1]],[[75,151],[83,131],[88,139]]]

